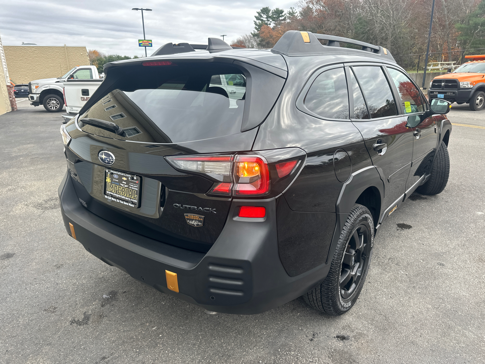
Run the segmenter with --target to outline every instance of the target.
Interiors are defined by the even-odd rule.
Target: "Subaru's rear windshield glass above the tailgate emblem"
[[[241,132],[246,78],[233,66],[152,66],[124,77],[80,117],[113,121],[139,133],[129,140],[162,143],[213,138]],[[113,99],[116,108],[103,103]],[[163,140],[153,135],[153,126]],[[89,125],[82,128],[101,136],[119,137]],[[159,137],[160,137],[159,135]],[[138,140],[138,138],[140,138]]]

